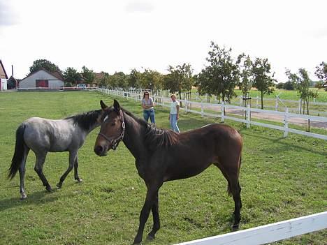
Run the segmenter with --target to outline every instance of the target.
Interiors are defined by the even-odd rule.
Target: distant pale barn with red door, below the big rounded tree
[[[19,88],[59,88],[64,87],[64,77],[55,71],[54,73],[48,72],[44,68],[29,74],[24,79],[20,80]]]

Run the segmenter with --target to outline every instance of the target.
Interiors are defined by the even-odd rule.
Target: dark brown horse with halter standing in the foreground
[[[153,227],[147,239],[154,239],[160,228],[158,191],[163,182],[193,177],[212,163],[221,170],[228,182],[227,190],[233,195],[235,203],[233,229],[238,229],[242,207],[238,181],[242,137],[238,131],[226,125],[210,124],[185,133],[175,133],[147,124],[120,107],[116,100],[110,107],[103,101],[100,104],[103,114],[94,152],[106,156],[110,149],[116,149],[119,142],[124,142],[136,159],[138,175],[147,186],[133,244],[142,242],[150,210]]]

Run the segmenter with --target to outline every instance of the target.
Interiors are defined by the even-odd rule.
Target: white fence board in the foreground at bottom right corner
[[[260,245],[327,228],[327,211],[176,245]]]

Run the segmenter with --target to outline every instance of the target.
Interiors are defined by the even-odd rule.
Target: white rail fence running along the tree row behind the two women
[[[131,98],[136,101],[140,101],[142,97],[140,96],[139,93],[132,93],[129,91],[121,91],[121,90],[112,90],[112,89],[99,89],[104,94],[111,94],[114,96],[123,96],[124,98]],[[158,105],[170,106],[170,98],[167,97],[161,97],[161,96],[153,96],[154,101]],[[256,109],[256,108],[250,108],[250,107],[241,107],[237,105],[224,105],[224,103],[217,104],[217,103],[203,103],[203,102],[194,102],[194,101],[182,101],[184,104],[184,107],[181,107],[180,110],[185,110],[186,112],[193,112],[196,114],[201,114],[202,117],[204,116],[209,116],[209,117],[219,117],[221,118],[221,121],[224,121],[224,119],[230,119],[233,121],[239,121],[242,123],[247,124],[247,128],[249,128],[251,125],[256,125],[256,126],[263,126],[266,128],[273,128],[277,129],[279,131],[284,131],[284,137],[287,137],[289,133],[297,133],[300,135],[305,135],[305,136],[310,136],[313,138],[319,138],[322,140],[327,140],[327,135],[321,135],[318,133],[310,133],[306,131],[301,131],[298,129],[294,128],[289,128],[289,120],[291,118],[296,118],[296,119],[305,119],[309,122],[310,121],[319,121],[322,123],[327,123],[327,117],[316,117],[316,116],[311,116],[311,115],[303,115],[303,114],[295,114],[295,113],[289,113],[287,110],[285,112],[279,112],[279,111],[273,111],[273,110],[261,110],[261,109]],[[198,109],[198,110],[194,110]],[[209,112],[205,111],[209,110]],[[224,110],[227,111],[227,114],[224,114]],[[229,112],[238,111],[238,112],[245,112],[246,117],[245,119],[242,119],[240,117],[232,117],[231,115],[228,115],[228,110]],[[279,115],[281,118],[281,122],[283,126],[278,126],[274,124],[268,124],[268,123],[263,123],[259,121],[254,121],[251,119],[251,113],[252,112],[257,112],[260,114],[275,114]]]

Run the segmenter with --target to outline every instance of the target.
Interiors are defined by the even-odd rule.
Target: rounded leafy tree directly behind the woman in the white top
[[[163,89],[167,89],[170,93],[178,92],[182,99],[182,92],[189,92],[194,84],[192,68],[190,64],[182,64],[176,67],[168,66],[169,73],[163,79]]]

